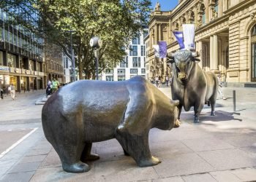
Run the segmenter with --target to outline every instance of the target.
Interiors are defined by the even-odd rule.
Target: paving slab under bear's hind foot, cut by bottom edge
[[[67,173],[62,167],[49,167],[39,169],[33,175],[30,182],[52,182],[52,181],[90,181],[94,182],[94,167],[86,173]]]

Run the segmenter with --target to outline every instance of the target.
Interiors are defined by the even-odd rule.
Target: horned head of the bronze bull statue
[[[200,61],[197,59],[198,56],[199,54],[197,52],[192,52],[189,50],[178,50],[175,53],[167,53],[167,58],[170,58],[169,63],[175,63],[173,68],[176,69],[175,72],[181,82],[184,82],[188,79],[189,73],[195,64],[195,61]]]

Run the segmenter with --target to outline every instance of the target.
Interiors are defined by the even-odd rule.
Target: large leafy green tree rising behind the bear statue
[[[113,68],[124,57],[129,39],[138,36],[141,25],[146,24],[151,10],[149,0],[6,0],[1,5],[9,9],[19,7],[23,13],[34,9],[37,16],[31,20],[37,23],[39,33],[59,45],[69,58],[72,33],[80,78],[83,74],[86,78],[95,76],[94,53],[89,46],[92,36],[99,36],[103,42],[99,50],[99,71]]]

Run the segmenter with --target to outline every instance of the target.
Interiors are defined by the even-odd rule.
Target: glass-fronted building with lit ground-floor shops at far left
[[[14,84],[17,91],[44,87],[42,39],[21,25],[10,25],[12,17],[0,9],[0,88]]]

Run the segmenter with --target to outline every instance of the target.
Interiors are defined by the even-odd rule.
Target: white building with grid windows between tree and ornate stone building
[[[148,27],[140,32],[139,37],[135,37],[129,43],[129,49],[126,50],[127,56],[113,70],[106,70],[99,78],[106,81],[122,81],[133,76],[146,76],[146,50],[144,37],[148,35]]]

